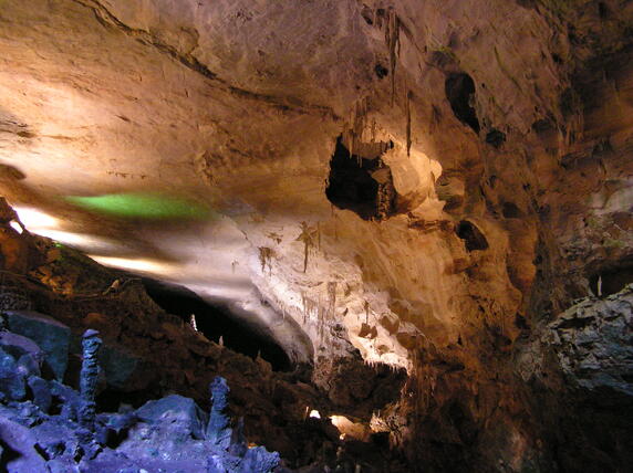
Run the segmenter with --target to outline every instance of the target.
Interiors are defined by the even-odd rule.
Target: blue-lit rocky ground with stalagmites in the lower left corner
[[[4,340],[11,336],[2,335]],[[11,346],[15,347],[15,341]],[[4,380],[7,372],[14,371],[3,362],[0,376]],[[92,374],[82,372],[82,387],[91,382]],[[56,381],[42,380],[41,390],[56,396],[54,383]],[[226,445],[205,441],[201,424],[207,414],[191,399],[172,396],[151,401],[136,411],[97,417],[93,411],[91,421],[86,422],[85,408],[91,400],[83,392],[79,395],[66,388],[60,399],[61,413],[50,412],[50,406],[25,401],[21,392],[6,395],[0,403],[0,462],[9,473],[138,472],[144,469],[270,473],[279,465],[278,453],[262,446],[249,449],[243,437],[239,444],[231,439]],[[94,409],[94,399],[92,407]],[[211,425],[207,434],[214,437],[214,433]]]

